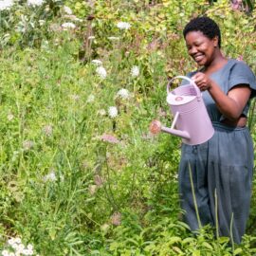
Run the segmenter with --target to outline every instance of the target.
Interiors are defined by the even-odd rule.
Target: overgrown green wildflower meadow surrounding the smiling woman
[[[0,254],[256,255],[255,180],[240,245],[194,234],[179,204],[181,139],[157,134],[173,119],[168,80],[196,68],[184,25],[209,15],[225,54],[256,72],[253,4],[1,0]]]

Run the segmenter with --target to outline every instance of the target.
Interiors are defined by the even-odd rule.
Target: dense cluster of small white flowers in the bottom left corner
[[[19,237],[11,237],[8,245],[8,248],[2,250],[3,256],[33,255],[34,253],[33,246],[28,244],[26,247]]]

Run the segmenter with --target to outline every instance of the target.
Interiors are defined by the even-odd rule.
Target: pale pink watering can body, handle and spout
[[[170,91],[175,79],[183,79],[188,84]],[[188,77],[176,76],[167,84],[167,103],[174,115],[171,128],[161,126],[161,131],[182,137],[185,144],[202,144],[214,134],[202,94]]]

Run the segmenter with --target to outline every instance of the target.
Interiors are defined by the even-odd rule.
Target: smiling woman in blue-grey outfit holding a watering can
[[[240,243],[252,185],[253,145],[246,125],[255,76],[247,64],[222,54],[220,29],[210,18],[192,19],[183,35],[189,55],[200,66],[188,76],[202,91],[215,130],[203,144],[182,145],[179,192],[185,220],[192,230],[200,224],[212,224],[220,236]],[[192,199],[190,169],[200,224]]]

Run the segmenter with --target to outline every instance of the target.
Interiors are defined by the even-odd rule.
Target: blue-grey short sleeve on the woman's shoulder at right
[[[252,92],[250,98],[256,96],[256,79],[255,75],[244,62],[236,61],[230,68],[229,73],[229,90],[239,84],[247,84]]]

